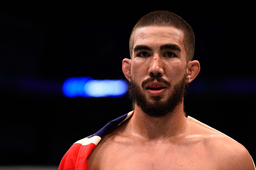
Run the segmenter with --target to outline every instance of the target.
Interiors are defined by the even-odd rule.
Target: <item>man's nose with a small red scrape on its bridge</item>
[[[151,77],[162,77],[163,76],[163,62],[159,56],[154,56],[151,59],[150,67],[148,69],[148,74]]]

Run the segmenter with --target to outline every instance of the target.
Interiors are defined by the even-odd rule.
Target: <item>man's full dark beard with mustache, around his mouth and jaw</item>
[[[172,113],[177,105],[180,105],[183,101],[185,95],[185,86],[188,85],[188,77],[185,74],[184,77],[174,85],[173,93],[168,97],[164,102],[161,102],[160,96],[154,96],[154,104],[148,102],[146,97],[140,92],[139,85],[130,77],[131,81],[129,82],[128,92],[130,99],[136,103],[141,110],[146,113],[148,116],[154,118],[164,118],[167,114]],[[159,82],[165,83],[167,86],[170,85],[169,82],[166,82],[162,77],[151,77],[142,84],[151,82],[156,79]],[[169,84],[168,84],[169,83]]]

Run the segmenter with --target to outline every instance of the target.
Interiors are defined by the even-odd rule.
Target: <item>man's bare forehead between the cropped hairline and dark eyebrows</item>
[[[134,32],[133,48],[136,45],[160,46],[163,44],[176,44],[184,49],[183,31],[174,27],[148,26],[137,28]]]

